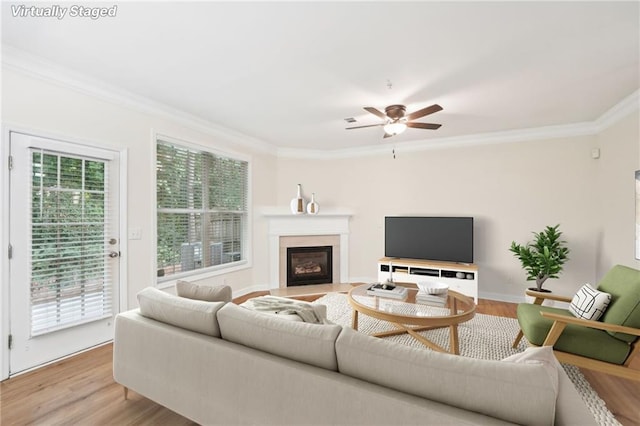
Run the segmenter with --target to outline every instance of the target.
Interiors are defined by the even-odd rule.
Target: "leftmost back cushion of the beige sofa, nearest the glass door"
[[[176,327],[220,337],[216,312],[225,302],[204,302],[174,296],[154,287],[138,293],[140,314]]]

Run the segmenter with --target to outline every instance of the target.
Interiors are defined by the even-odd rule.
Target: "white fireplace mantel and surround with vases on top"
[[[280,287],[280,237],[338,235],[340,237],[340,282],[349,280],[349,218],[346,210],[320,210],[318,214],[292,214],[288,209],[270,207],[262,210],[268,223],[269,287]]]

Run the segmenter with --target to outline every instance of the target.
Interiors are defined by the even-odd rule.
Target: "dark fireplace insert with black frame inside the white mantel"
[[[287,286],[333,281],[333,247],[288,247]]]

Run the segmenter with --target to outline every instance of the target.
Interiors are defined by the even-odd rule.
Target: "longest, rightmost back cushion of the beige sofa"
[[[541,363],[438,353],[348,328],[336,354],[339,371],[351,377],[514,423],[554,423],[557,376]]]

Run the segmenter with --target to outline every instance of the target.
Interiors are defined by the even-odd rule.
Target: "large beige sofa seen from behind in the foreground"
[[[139,302],[116,318],[114,378],[200,424],[595,424],[545,349],[476,360],[152,288]]]

